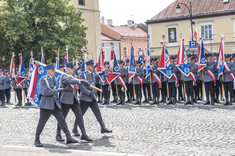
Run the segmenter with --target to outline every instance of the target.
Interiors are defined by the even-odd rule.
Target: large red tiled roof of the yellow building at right
[[[176,0],[167,8],[159,12],[147,23],[154,23],[160,21],[174,21],[176,19],[188,18],[189,11],[184,5],[180,5],[181,13],[176,13],[176,6],[178,3],[185,3],[190,6],[192,2],[193,18],[202,18],[203,16],[222,15],[222,14],[235,14],[235,0],[229,0],[224,3],[223,0]]]

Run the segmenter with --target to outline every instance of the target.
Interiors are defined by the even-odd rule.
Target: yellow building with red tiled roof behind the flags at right
[[[151,42],[151,55],[161,55],[160,41],[165,38],[170,55],[177,54],[180,37],[185,39],[188,53],[191,36],[190,2],[192,8],[193,34],[204,38],[205,50],[218,53],[221,34],[225,36],[225,53],[235,53],[235,0],[176,0],[146,23]],[[187,7],[184,5],[186,4]],[[181,13],[176,12],[177,5]],[[194,37],[195,40],[195,37]]]

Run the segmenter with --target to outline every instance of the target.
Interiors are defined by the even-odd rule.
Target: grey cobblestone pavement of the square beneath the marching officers
[[[235,106],[100,106],[112,134],[103,135],[90,110],[84,117],[87,143],[65,145],[55,140],[56,120],[51,117],[41,135],[44,148],[130,153],[139,155],[235,155]],[[0,108],[0,146],[34,147],[39,118],[37,107]],[[66,119],[72,129],[74,115]],[[63,135],[63,137],[65,137]]]

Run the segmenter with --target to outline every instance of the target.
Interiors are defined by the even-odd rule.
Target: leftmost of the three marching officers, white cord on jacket
[[[60,125],[67,137],[66,143],[77,143],[78,141],[74,140],[71,137],[63,113],[61,111],[58,93],[63,89],[58,89],[57,80],[55,78],[55,65],[47,65],[45,69],[47,71],[47,75],[45,77],[42,77],[39,82],[41,94],[39,102],[40,118],[36,129],[34,145],[36,147],[43,147],[43,144],[41,144],[40,142],[40,134],[43,131],[47,120],[52,114],[55,116],[56,120],[58,121],[58,124]]]

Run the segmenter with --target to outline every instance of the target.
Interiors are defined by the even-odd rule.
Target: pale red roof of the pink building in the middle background
[[[130,28],[128,26],[106,26],[119,33],[120,36],[147,38],[147,33],[140,28]]]

